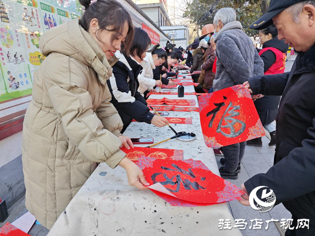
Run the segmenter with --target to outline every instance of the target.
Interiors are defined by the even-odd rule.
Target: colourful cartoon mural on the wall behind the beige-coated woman
[[[0,102],[32,93],[42,34],[81,14],[78,0],[0,0]]]

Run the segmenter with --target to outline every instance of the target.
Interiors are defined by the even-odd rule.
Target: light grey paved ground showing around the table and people
[[[291,70],[294,59],[295,56],[291,57],[291,59],[286,62],[285,72]],[[267,134],[267,136],[269,136],[269,134]],[[269,139],[267,137],[263,137],[262,141],[262,148],[250,146],[246,147],[245,156],[241,164],[242,171],[239,174],[239,178],[237,180],[230,180],[232,183],[236,184],[237,186],[241,186],[241,184],[250,177],[253,177],[259,173],[266,173],[269,168],[273,166],[275,147],[268,146]],[[219,168],[221,167],[220,158],[221,157],[217,157]],[[281,221],[281,219],[289,219],[291,217],[290,212],[287,211],[282,204],[274,207],[267,213],[259,213],[258,211],[253,210],[252,207],[242,206],[237,201],[232,201],[228,204],[234,219],[246,219],[246,222],[248,223],[246,230],[242,230],[243,236],[279,236],[279,231],[277,230],[274,223],[269,224],[268,230],[264,229],[266,226],[265,221],[271,220],[271,218]],[[10,207],[8,212],[9,217],[5,220],[5,222],[0,223],[0,228],[6,222],[11,223],[27,212],[27,209],[25,208],[25,197],[21,198],[12,207]],[[250,220],[253,219],[261,219],[264,221],[262,230],[249,229],[251,226]],[[49,231],[45,227],[34,224],[29,234],[31,236],[47,236],[48,232]]]

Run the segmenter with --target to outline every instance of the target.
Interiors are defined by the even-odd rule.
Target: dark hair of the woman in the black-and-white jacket
[[[138,27],[134,28],[134,38],[130,47],[130,55],[143,59],[141,55],[148,50],[150,45],[151,39],[147,32]]]

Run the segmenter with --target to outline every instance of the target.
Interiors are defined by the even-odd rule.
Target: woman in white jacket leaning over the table
[[[139,89],[138,91],[143,95],[146,91],[156,92],[153,89],[155,86],[161,86],[162,82],[153,79],[153,69],[156,66],[162,65],[167,59],[167,53],[164,48],[158,44],[150,51],[147,51],[146,57],[141,62],[143,70],[138,75]]]

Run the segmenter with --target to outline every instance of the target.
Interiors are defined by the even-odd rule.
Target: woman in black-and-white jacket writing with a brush
[[[151,39],[147,32],[141,28],[135,28],[134,35],[130,56],[126,53],[115,53],[119,61],[113,66],[113,75],[107,81],[112,93],[111,103],[116,107],[124,123],[122,132],[126,130],[132,119],[157,127],[163,127],[167,124],[165,118],[150,112],[146,100],[138,92],[138,76],[143,69],[141,63],[146,57]]]

